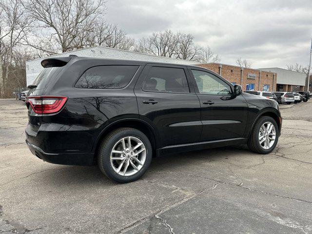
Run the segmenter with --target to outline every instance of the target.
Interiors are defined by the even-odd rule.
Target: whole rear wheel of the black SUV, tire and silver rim
[[[127,183],[146,172],[152,160],[151,143],[142,132],[118,128],[103,139],[98,152],[98,166],[109,178]]]

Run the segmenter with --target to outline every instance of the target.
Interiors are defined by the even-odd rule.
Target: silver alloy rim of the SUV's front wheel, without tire
[[[265,122],[262,124],[259,131],[259,143],[263,149],[270,149],[276,138],[275,126],[271,122]]]

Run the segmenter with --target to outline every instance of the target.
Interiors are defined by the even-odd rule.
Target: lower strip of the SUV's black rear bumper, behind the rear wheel
[[[49,163],[80,166],[89,166],[94,164],[93,153],[50,154],[44,152],[38,146],[31,144],[27,139],[26,144],[33,155]]]

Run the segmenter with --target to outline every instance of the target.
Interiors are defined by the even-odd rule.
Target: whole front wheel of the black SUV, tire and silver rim
[[[259,154],[269,154],[278,141],[278,126],[276,121],[269,116],[258,119],[248,140],[251,151]]]

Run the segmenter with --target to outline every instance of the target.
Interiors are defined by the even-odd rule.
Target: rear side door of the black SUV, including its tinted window
[[[161,145],[199,140],[200,104],[185,66],[148,64],[135,86],[140,118],[155,127]]]

